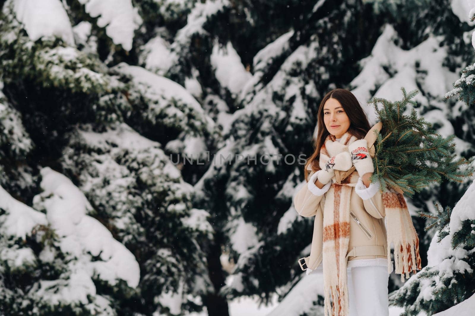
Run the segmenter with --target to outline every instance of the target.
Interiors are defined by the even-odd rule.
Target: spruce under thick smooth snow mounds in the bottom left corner
[[[117,315],[136,296],[138,263],[69,179],[40,174],[33,208],[0,187],[0,312]]]

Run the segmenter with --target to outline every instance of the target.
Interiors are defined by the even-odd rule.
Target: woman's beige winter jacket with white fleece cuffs
[[[312,187],[312,185],[310,185],[310,187]],[[315,270],[322,262],[323,208],[325,205],[326,191],[329,187],[330,185],[327,185],[327,188],[323,187],[322,189],[319,189],[314,185],[316,190],[313,188],[312,191],[322,194],[315,195],[309,189],[307,183],[294,197],[295,210],[299,215],[303,217],[315,216],[310,256],[299,260],[302,270],[306,270],[307,268]],[[386,259],[386,228],[384,226],[385,213],[379,186],[375,183],[371,183],[369,188],[358,190],[358,192],[367,199],[362,199],[357,194],[356,190],[358,189],[352,187],[350,198],[350,241],[347,253],[348,261],[355,259]],[[369,196],[372,197],[368,198]]]

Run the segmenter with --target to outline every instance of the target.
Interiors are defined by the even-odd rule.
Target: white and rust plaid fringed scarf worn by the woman
[[[345,133],[340,141],[328,135],[320,148],[320,168],[334,155],[348,151],[348,145],[358,138]],[[371,153],[371,151],[370,151]],[[347,316],[349,314],[348,287],[346,276],[348,244],[350,241],[350,198],[352,187],[356,186],[358,172],[351,172],[341,178],[335,175],[330,190],[325,195],[323,209],[323,287],[325,316]],[[421,269],[419,240],[412,224],[409,210],[402,194],[390,190],[382,193],[386,211],[388,271],[392,271],[390,244],[394,244],[396,273],[409,277],[409,272]],[[333,306],[330,306],[330,300]]]

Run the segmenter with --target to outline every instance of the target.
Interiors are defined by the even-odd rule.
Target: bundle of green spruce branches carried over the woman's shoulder
[[[454,153],[455,135],[445,138],[438,134],[432,125],[418,117],[414,108],[410,115],[404,114],[407,105],[417,106],[412,100],[418,90],[406,93],[401,87],[403,99],[391,102],[387,99],[373,98],[373,104],[382,130],[375,142],[375,159],[372,180],[378,179],[383,190],[399,187],[405,194],[412,196],[431,183],[440,183],[443,178],[462,182],[472,175],[470,170],[460,170],[469,163]],[[381,104],[382,107],[378,107]],[[386,189],[384,189],[386,188]]]

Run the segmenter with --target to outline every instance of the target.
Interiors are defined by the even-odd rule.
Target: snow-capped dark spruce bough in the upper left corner
[[[74,46],[62,5],[49,4],[43,9],[57,17],[49,34],[35,28],[41,21],[31,12],[38,8],[24,1],[5,2],[0,26],[3,92],[22,114],[38,157],[60,154],[57,142],[70,125],[113,122],[131,109],[97,56]]]

